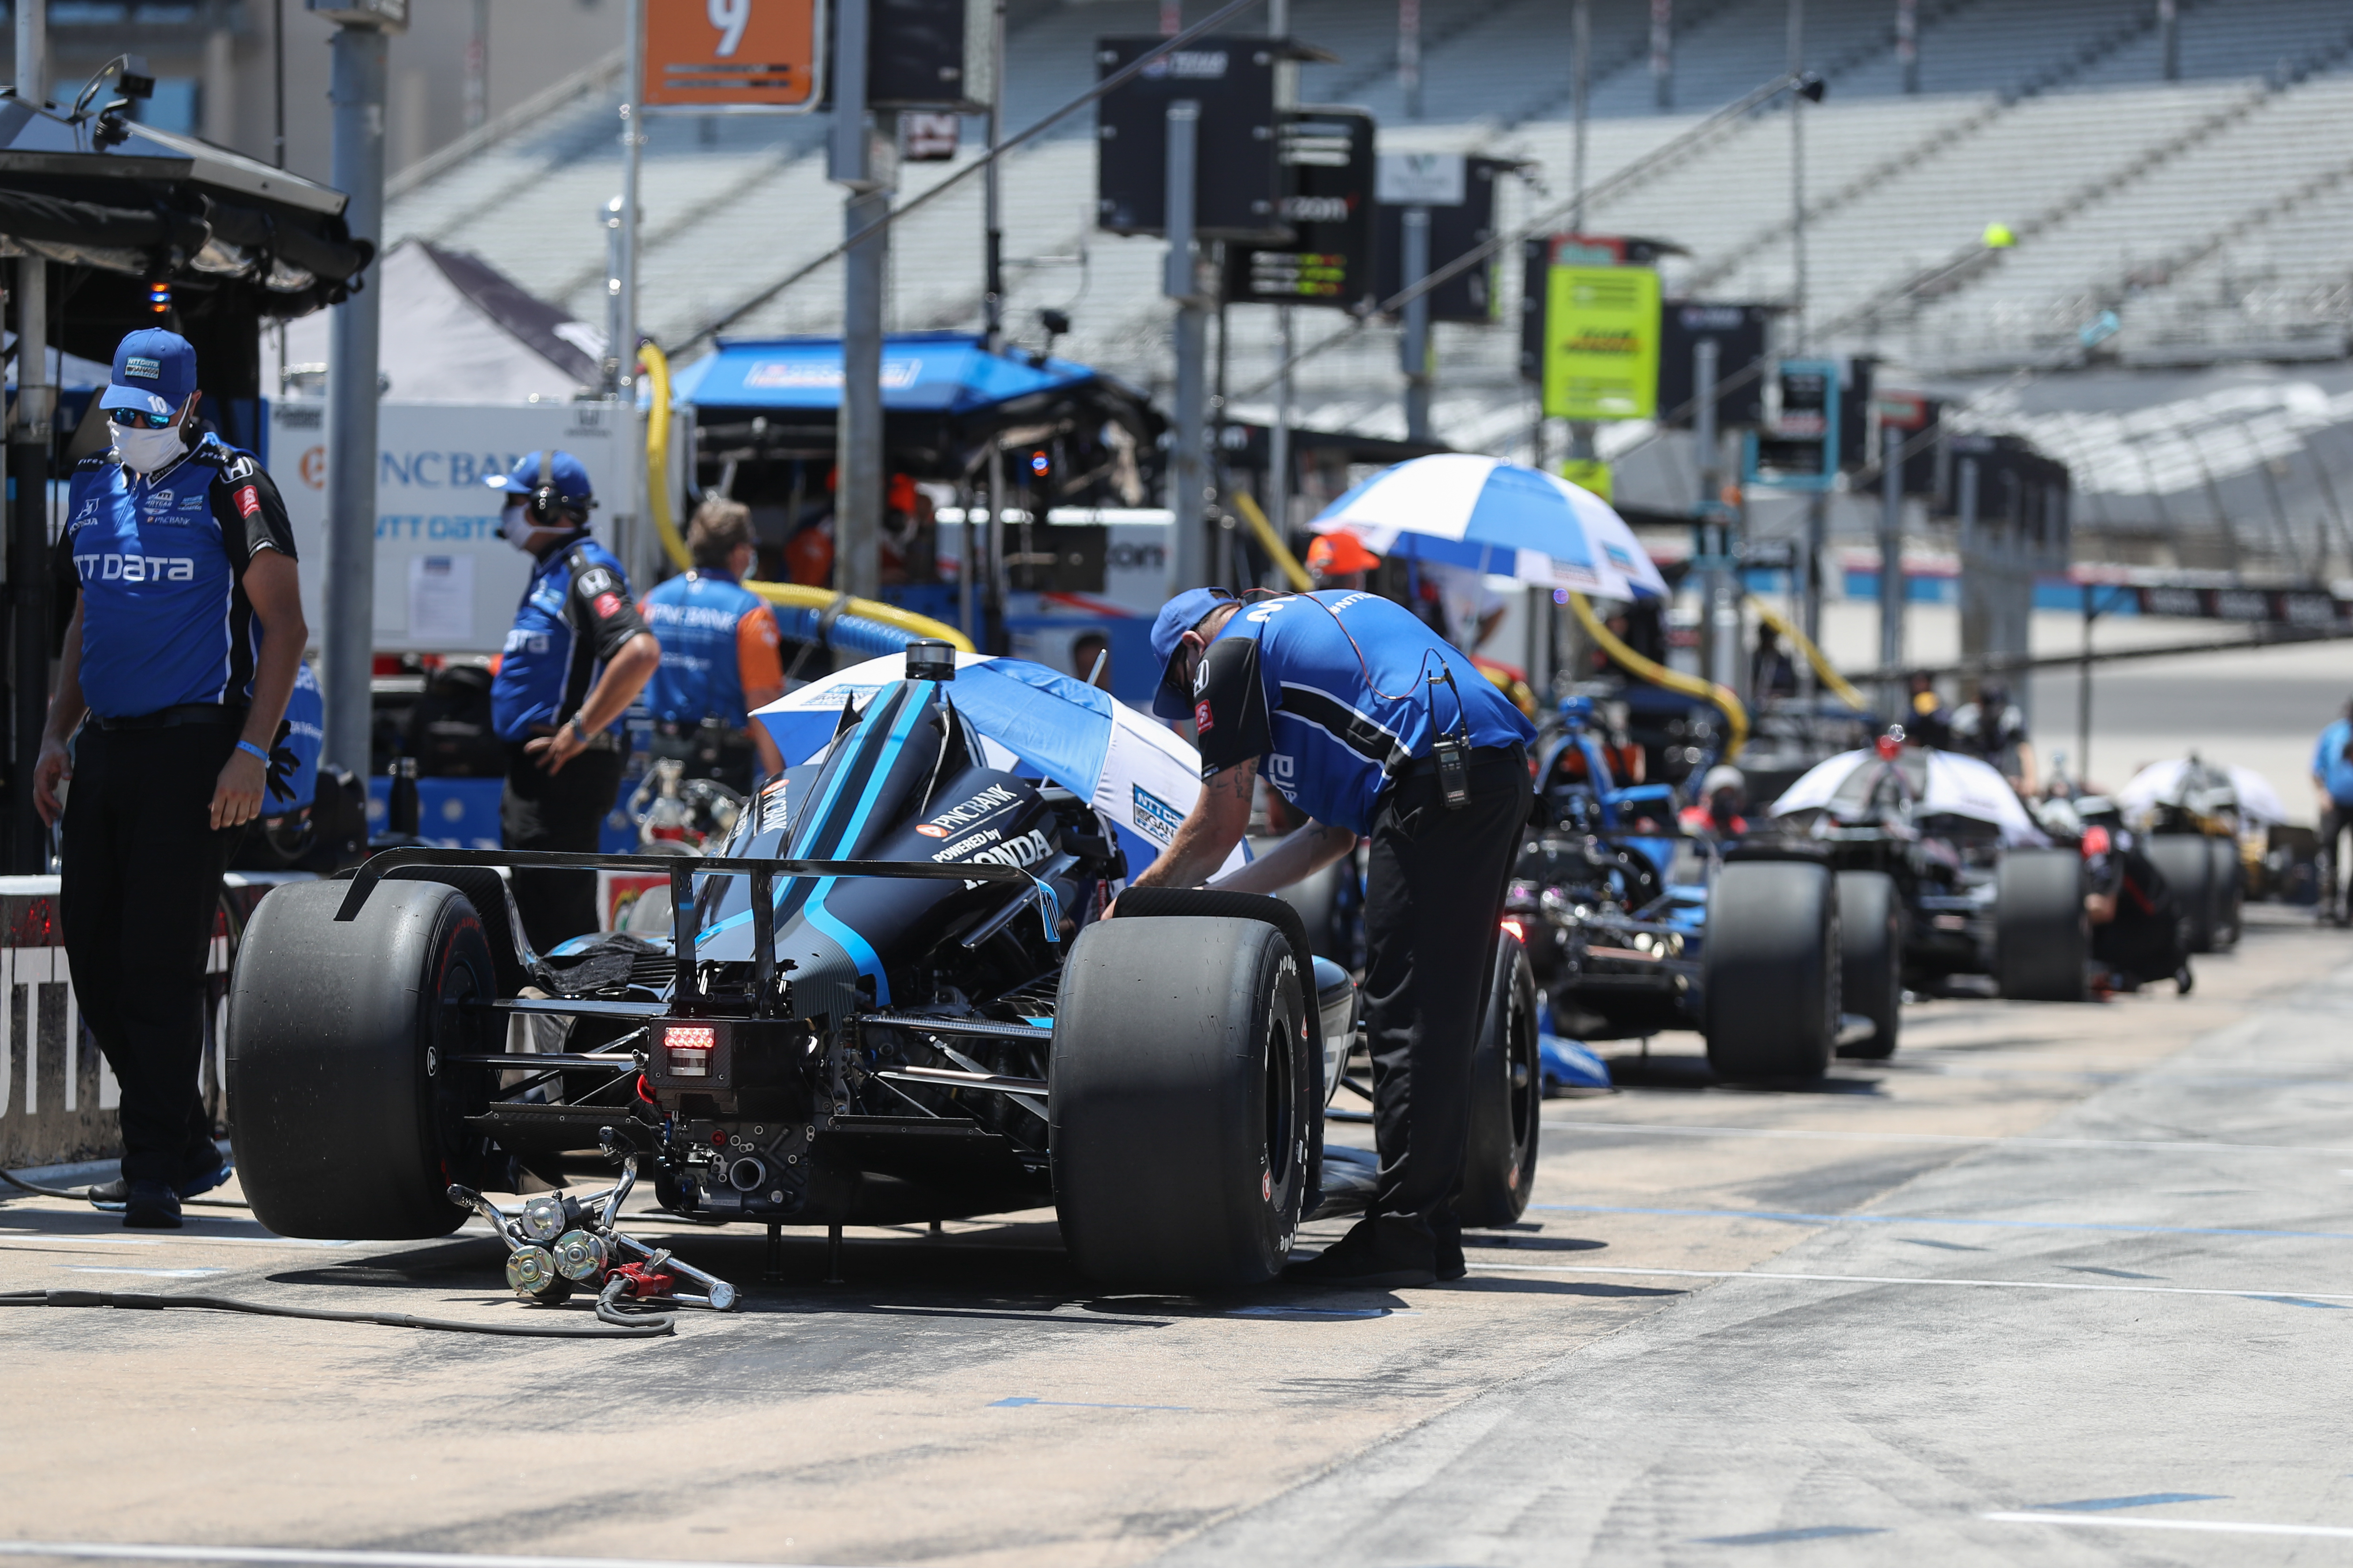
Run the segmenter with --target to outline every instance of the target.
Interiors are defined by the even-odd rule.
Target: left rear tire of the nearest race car
[[[228,992],[238,1180],[280,1237],[409,1241],[466,1220],[482,1138],[464,1117],[499,1025],[452,1001],[496,997],[473,903],[442,882],[384,882],[336,922],[348,882],[294,882],[254,907]]]

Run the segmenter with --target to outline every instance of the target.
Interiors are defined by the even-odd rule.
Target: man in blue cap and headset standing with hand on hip
[[[628,576],[588,536],[595,496],[569,451],[534,451],[492,475],[506,496],[499,534],[532,557],[532,581],[489,684],[489,722],[506,741],[499,837],[508,849],[591,853],[621,792],[621,715],[661,663],[631,604]],[[518,870],[515,907],[532,945],[598,929],[595,872]]]

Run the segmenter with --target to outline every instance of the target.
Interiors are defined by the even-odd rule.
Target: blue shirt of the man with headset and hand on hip
[[[605,661],[642,630],[628,576],[605,545],[588,536],[553,545],[532,567],[506,632],[489,682],[492,729],[501,741],[555,729],[588,701]],[[619,731],[621,719],[609,729]]]

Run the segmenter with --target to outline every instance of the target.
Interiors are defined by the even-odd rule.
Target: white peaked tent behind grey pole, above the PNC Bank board
[[[369,277],[381,292],[376,367],[398,402],[569,402],[598,383],[605,331],[527,294],[466,252],[402,240]],[[289,390],[322,386],[327,320],[285,327]],[[261,334],[261,386],[280,388],[278,334]]]

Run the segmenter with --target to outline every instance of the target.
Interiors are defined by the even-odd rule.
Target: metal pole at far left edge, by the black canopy
[[[16,5],[16,96],[42,103],[49,96],[49,7]],[[16,654],[16,748],[9,766],[7,820],[9,870],[49,870],[49,835],[33,809],[33,759],[49,717],[49,440],[56,423],[56,388],[49,383],[49,263],[16,261],[16,428],[9,430],[9,611]]]

